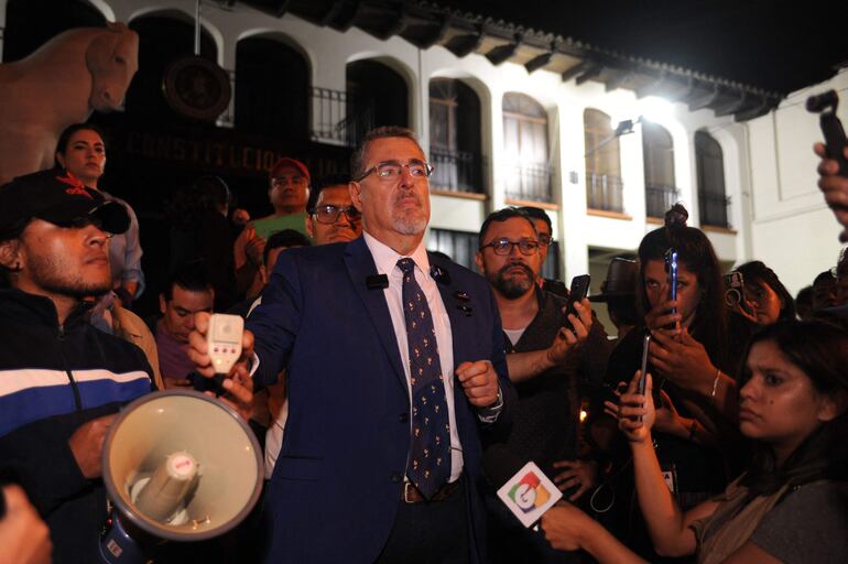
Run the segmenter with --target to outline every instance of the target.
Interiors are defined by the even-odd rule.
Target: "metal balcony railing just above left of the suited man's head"
[[[312,112],[313,141],[356,147],[373,128],[373,108],[346,91],[312,87]]]

